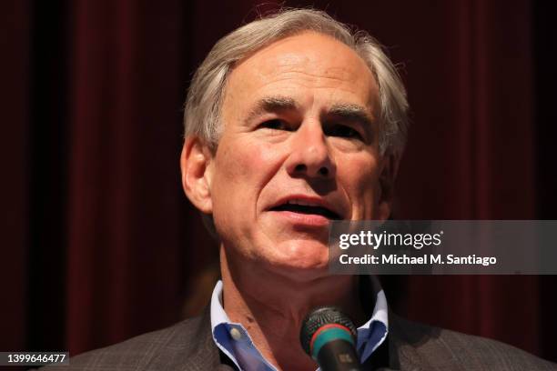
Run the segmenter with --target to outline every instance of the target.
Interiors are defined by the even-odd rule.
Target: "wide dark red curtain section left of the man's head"
[[[73,3],[66,299],[72,352],[166,325],[179,313],[184,77],[177,3]]]

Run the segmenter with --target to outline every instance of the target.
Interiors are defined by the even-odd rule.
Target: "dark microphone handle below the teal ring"
[[[361,371],[360,358],[346,340],[333,340],[319,349],[317,356],[322,371]]]

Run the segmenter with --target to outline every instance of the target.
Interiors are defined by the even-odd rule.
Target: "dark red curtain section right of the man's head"
[[[417,42],[409,52],[415,115],[398,216],[535,218],[530,6],[444,5],[432,22],[428,15],[426,30],[421,20],[411,27],[434,45]],[[412,276],[405,283],[411,318],[539,352],[547,318],[538,315],[538,277]]]

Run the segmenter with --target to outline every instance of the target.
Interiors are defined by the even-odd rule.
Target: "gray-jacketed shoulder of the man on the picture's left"
[[[187,319],[162,330],[136,336],[70,358],[55,370],[203,370],[218,364],[218,350],[206,316]]]

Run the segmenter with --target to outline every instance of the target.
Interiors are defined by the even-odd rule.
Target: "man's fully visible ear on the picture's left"
[[[211,198],[213,155],[197,136],[188,136],[180,156],[182,187],[189,201],[202,213],[213,212]]]

